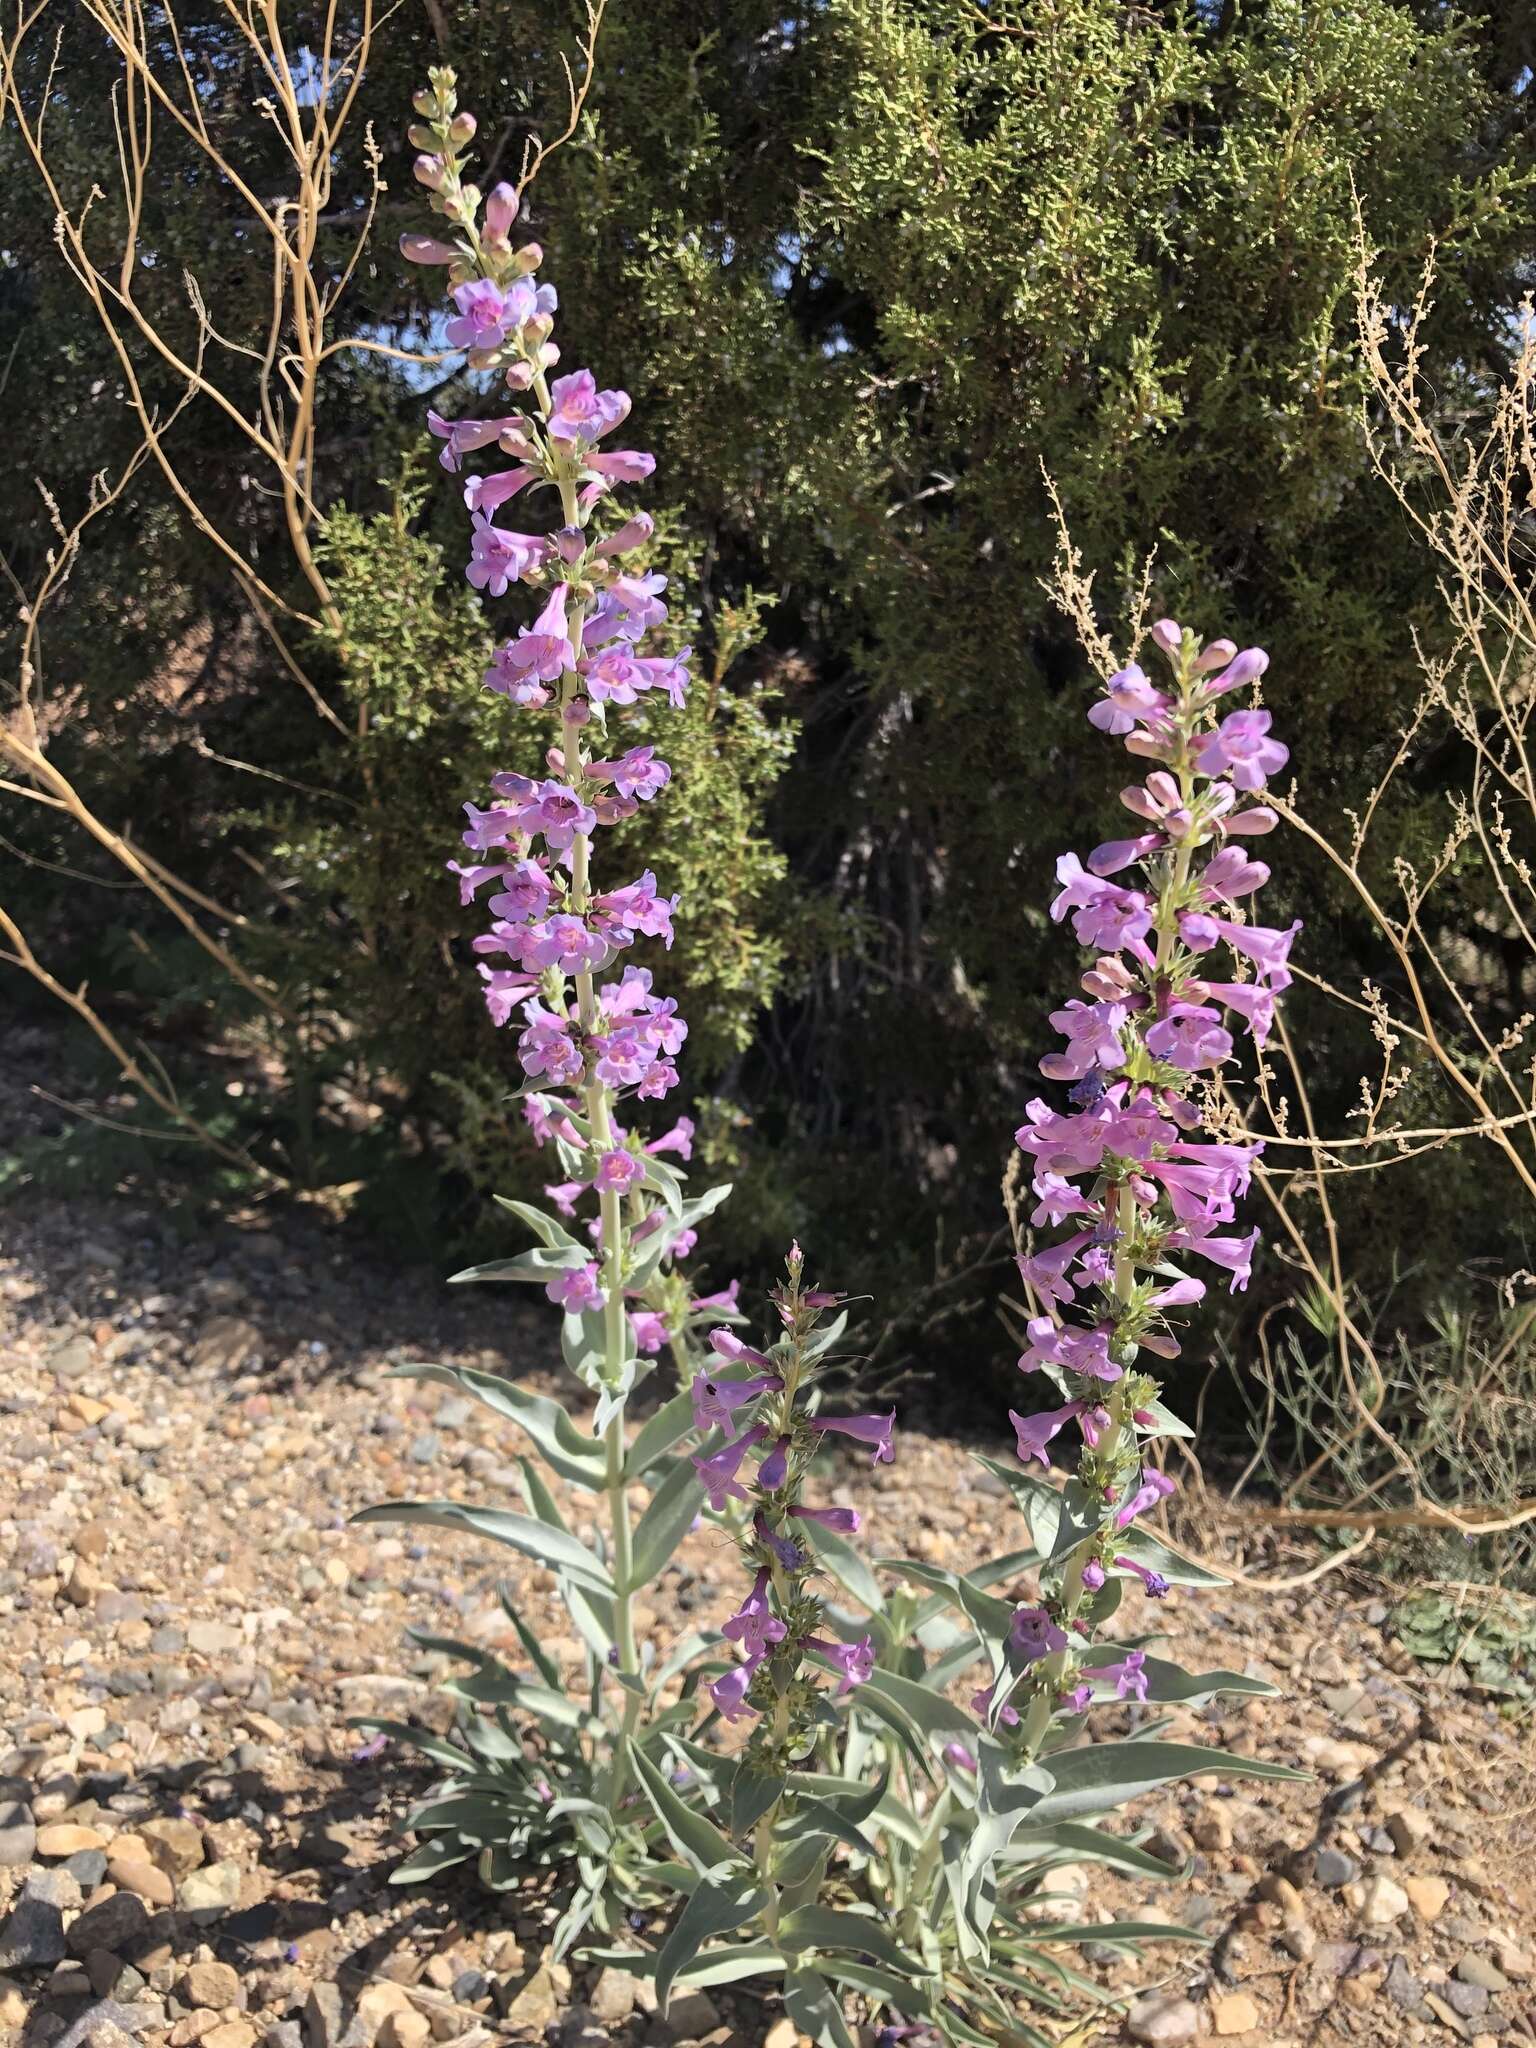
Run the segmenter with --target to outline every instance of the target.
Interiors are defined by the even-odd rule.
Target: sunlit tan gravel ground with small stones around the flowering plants
[[[29,1198],[0,1210],[0,2040],[793,2048],[772,2003],[715,1993],[662,2021],[631,1980],[551,1966],[535,1898],[387,1884],[428,1780],[393,1749],[360,1757],[346,1720],[446,1720],[406,1628],[500,1642],[508,1552],[348,1518],[389,1495],[504,1497],[518,1444],[385,1374],[440,1358],[537,1384],[539,1309],[383,1268],[309,1214],[188,1245],[127,1200]],[[881,1548],[934,1563],[1018,1540],[967,1446],[913,1427],[895,1466],[846,1468],[836,1497],[874,1509]],[[713,1616],[727,1569],[717,1536],[688,1538],[641,1632]],[[541,1577],[520,1599],[575,1661]],[[1184,1884],[1083,1876],[1090,1919],[1214,1937],[1102,1952],[1104,1985],[1137,2001],[1090,2040],[1536,2040],[1528,1751],[1384,1618],[1354,1573],[1157,1610],[1169,1655],[1284,1692],[1184,1731],[1317,1778],[1169,1792],[1153,1847],[1194,1860]]]

